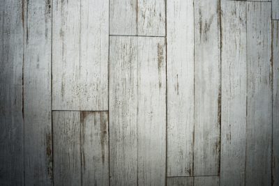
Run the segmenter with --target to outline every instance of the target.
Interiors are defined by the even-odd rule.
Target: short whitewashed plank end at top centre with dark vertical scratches
[[[137,1],[137,35],[165,36],[165,0]]]

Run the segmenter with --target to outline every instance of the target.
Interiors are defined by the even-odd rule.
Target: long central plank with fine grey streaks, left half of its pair
[[[137,185],[137,38],[110,37],[110,183]]]

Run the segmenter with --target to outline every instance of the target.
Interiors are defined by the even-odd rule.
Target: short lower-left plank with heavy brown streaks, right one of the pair
[[[80,114],[82,185],[109,185],[108,113]]]

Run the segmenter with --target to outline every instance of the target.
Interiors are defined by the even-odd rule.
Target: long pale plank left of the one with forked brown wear
[[[167,5],[167,176],[193,176],[193,0]]]

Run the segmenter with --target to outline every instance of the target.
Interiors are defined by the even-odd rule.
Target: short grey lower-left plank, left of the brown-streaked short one
[[[80,112],[53,111],[54,185],[81,185]]]

